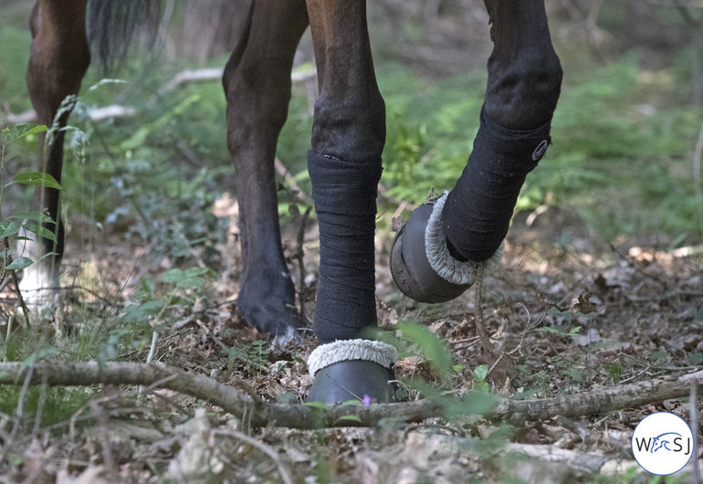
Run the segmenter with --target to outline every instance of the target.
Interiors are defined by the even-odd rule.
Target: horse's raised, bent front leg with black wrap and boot
[[[454,189],[399,231],[391,266],[400,289],[440,302],[498,265],[525,177],[551,143],[561,66],[543,0],[486,0],[493,52],[480,128]]]

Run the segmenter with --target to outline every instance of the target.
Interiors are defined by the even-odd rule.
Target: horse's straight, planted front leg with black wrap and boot
[[[393,347],[366,339],[376,325],[376,187],[385,142],[365,0],[308,0],[320,98],[308,169],[320,226],[320,280],[309,360],[310,400],[387,400]]]

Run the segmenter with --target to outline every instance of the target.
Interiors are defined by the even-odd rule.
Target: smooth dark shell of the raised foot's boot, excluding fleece
[[[420,302],[453,300],[471,287],[442,279],[427,260],[425,230],[434,202],[417,207],[400,227],[391,249],[393,280],[405,296]]]

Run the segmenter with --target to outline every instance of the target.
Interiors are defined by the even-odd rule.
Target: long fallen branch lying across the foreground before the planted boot
[[[31,374],[28,374],[31,372]],[[378,426],[383,420],[418,422],[425,418],[476,413],[494,420],[537,420],[555,416],[606,414],[622,408],[655,405],[671,398],[689,395],[691,384],[703,384],[703,371],[676,380],[655,380],[624,384],[574,395],[541,400],[512,400],[496,395],[470,392],[463,401],[450,399],[384,405],[345,405],[328,409],[308,405],[255,402],[235,388],[200,374],[154,363],[0,363],[0,384],[160,385],[222,407],[253,426],[320,428],[334,426]],[[474,405],[476,403],[476,405]]]

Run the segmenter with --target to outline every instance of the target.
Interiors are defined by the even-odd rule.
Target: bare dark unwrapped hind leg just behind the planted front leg
[[[223,79],[243,263],[237,310],[283,342],[294,336],[297,315],[280,242],[274,160],[288,115],[293,57],[307,26],[303,0],[253,2]]]

